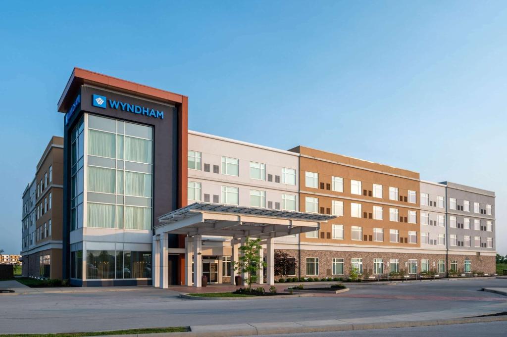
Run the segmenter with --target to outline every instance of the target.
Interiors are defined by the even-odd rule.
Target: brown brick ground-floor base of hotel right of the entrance
[[[440,277],[447,276],[447,271],[451,268],[451,260],[457,260],[458,272],[464,270],[465,259],[470,261],[470,271],[482,272],[492,275],[496,273],[495,256],[477,256],[477,255],[449,255],[446,254],[418,254],[418,253],[384,253],[384,252],[350,252],[350,251],[328,251],[328,250],[291,250],[277,249],[296,258],[296,275],[293,277],[343,277],[347,278],[352,271],[352,258],[363,259],[363,277],[374,275],[374,259],[383,259],[383,275],[389,274],[389,260],[399,259],[399,268],[405,275],[415,277],[416,274],[409,274],[409,260],[417,260],[417,276],[420,277],[421,260],[429,260],[429,271],[437,273]],[[318,258],[318,275],[308,275],[306,271],[306,259]],[[333,275],[333,258],[343,258],[343,275]],[[439,273],[439,260],[444,261],[445,272]],[[286,278],[287,276],[275,276],[275,279]]]

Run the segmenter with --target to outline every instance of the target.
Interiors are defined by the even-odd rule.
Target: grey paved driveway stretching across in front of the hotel
[[[180,299],[175,290],[141,288],[0,295],[0,332],[77,332],[136,327],[364,318],[416,314],[462,316],[507,311],[507,296],[478,291],[506,279],[357,284],[346,293],[245,301]]]

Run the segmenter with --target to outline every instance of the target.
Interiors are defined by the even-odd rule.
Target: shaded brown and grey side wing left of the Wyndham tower
[[[63,138],[53,136],[23,193],[24,276],[62,277]]]

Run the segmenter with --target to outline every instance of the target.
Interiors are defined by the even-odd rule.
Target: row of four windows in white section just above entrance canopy
[[[234,186],[222,186],[221,187],[221,200],[219,196],[213,196],[213,203],[222,203],[227,205],[239,205],[239,189]],[[250,202],[249,205],[251,207],[261,207],[266,208],[266,191],[259,190],[249,190]],[[208,194],[204,195],[204,201],[210,202],[210,196]],[[202,201],[202,184],[196,181],[188,182],[188,199],[189,201]],[[278,204],[278,203],[276,203]],[[276,208],[276,206],[275,206]],[[287,211],[296,211],[297,202],[296,195],[293,194],[282,194],[282,204],[281,209]]]

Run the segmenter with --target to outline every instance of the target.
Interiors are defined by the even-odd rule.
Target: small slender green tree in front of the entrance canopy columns
[[[246,283],[250,292],[252,283],[257,281],[257,271],[266,267],[266,263],[262,260],[260,249],[261,239],[246,238],[244,245],[239,247],[241,256],[239,256],[238,261],[234,264],[234,270],[248,274]]]

